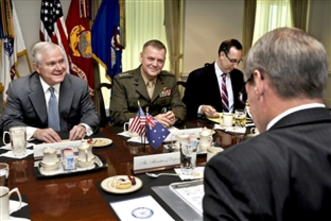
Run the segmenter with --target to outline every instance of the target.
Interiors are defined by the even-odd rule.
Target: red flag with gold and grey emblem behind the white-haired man
[[[94,76],[91,46],[91,31],[86,10],[82,7],[89,4],[86,0],[71,0],[66,26],[69,41],[69,56],[71,58],[71,74],[86,80],[90,95],[94,95]]]

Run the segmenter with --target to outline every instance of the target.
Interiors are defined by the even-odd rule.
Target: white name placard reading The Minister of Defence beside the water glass
[[[180,164],[179,151],[133,157],[133,171]]]

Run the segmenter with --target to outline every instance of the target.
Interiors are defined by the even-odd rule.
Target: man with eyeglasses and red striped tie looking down
[[[240,99],[244,77],[237,69],[241,56],[241,43],[236,39],[225,40],[219,46],[215,62],[189,74],[183,97],[188,118],[216,117],[217,112],[244,108]]]

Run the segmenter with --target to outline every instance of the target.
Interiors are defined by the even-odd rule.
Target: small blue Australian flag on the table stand
[[[165,126],[146,113],[146,137],[152,147],[158,149],[169,133],[170,131]]]

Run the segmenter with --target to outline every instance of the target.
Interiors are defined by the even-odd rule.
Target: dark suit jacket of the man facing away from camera
[[[297,111],[206,165],[205,220],[331,220],[331,116]]]

